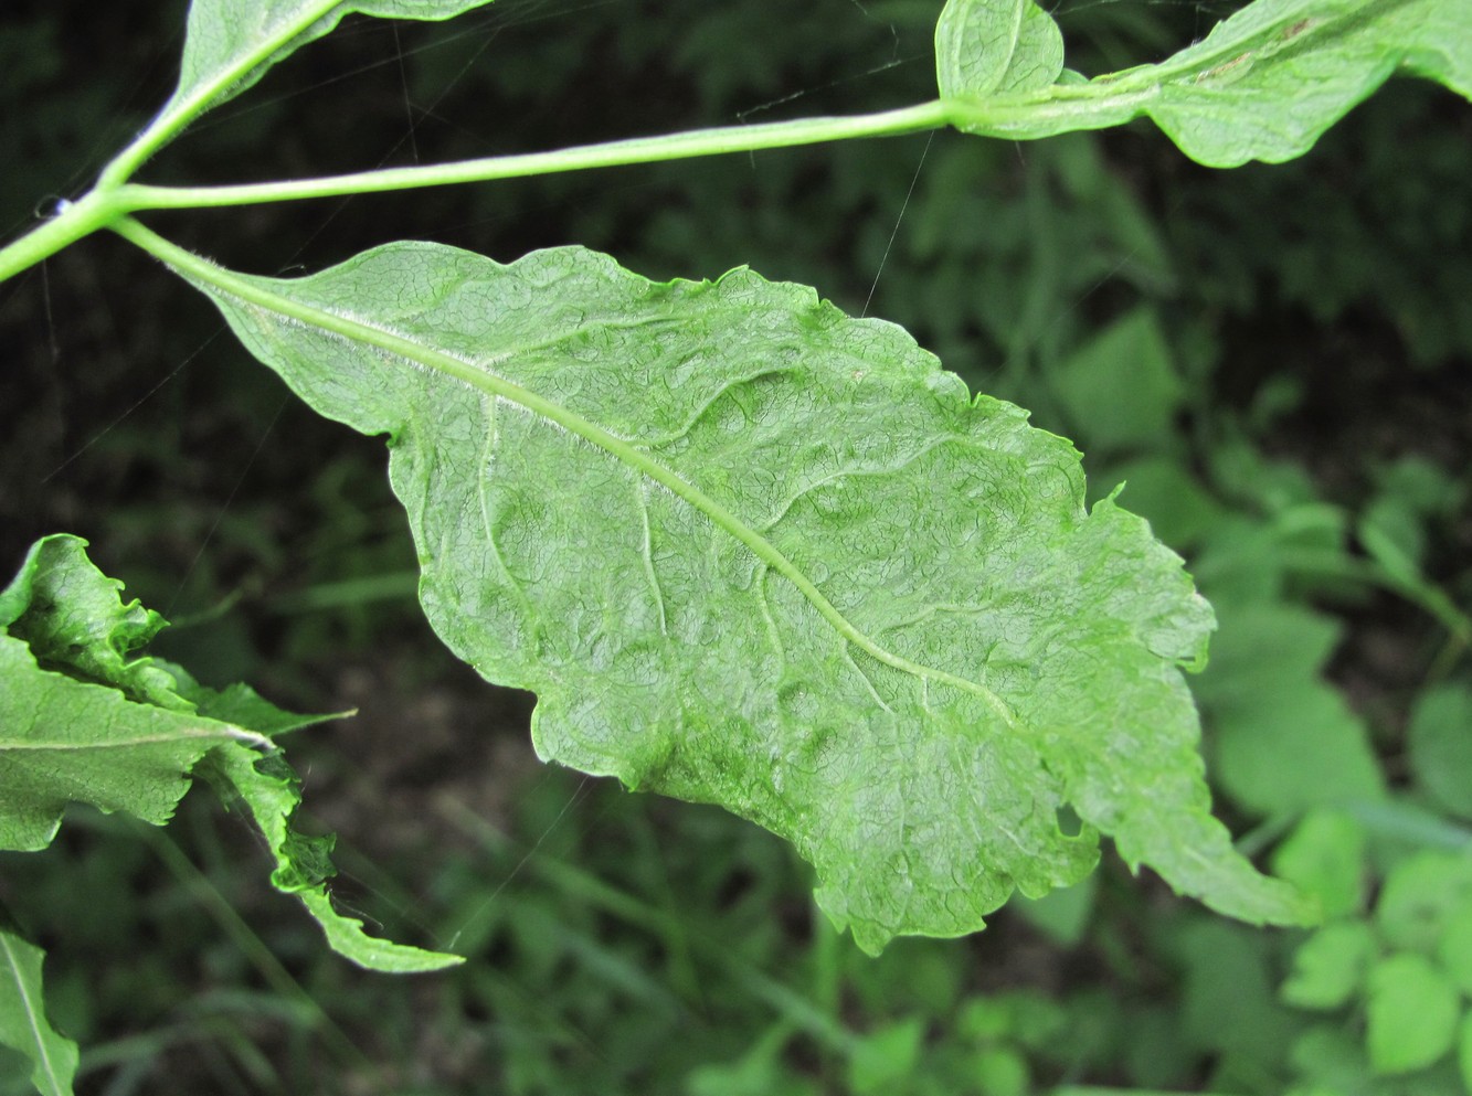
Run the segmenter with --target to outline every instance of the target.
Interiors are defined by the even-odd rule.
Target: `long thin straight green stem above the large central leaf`
[[[378,194],[415,187],[445,187],[453,182],[486,182],[524,175],[552,175],[589,168],[618,168],[630,163],[683,160],[696,156],[786,149],[821,144],[855,137],[892,137],[938,129],[949,122],[951,106],[944,102],[921,103],[899,110],[849,118],[802,118],[790,122],[733,125],[715,129],[690,129],[664,137],[634,137],[623,141],[584,144],[558,152],[489,156],[456,163],[328,175],[286,182],[252,182],[228,187],[150,187],[121,185],[116,199],[130,210],[209,209],[246,206],[265,202]]]

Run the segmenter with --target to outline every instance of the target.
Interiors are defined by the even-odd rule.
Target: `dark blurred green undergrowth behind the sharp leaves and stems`
[[[1069,65],[1234,10],[1061,0]],[[183,0],[6,0],[0,228],[166,97]],[[498,0],[349,21],[143,177],[244,181],[901,106],[941,0]],[[751,265],[905,325],[1085,452],[1220,616],[1192,684],[1220,814],[1316,890],[1259,931],[1105,856],[974,937],[857,952],[776,839],[543,768],[531,699],[440,649],[378,441],[315,419],[112,238],[0,287],[0,571],[88,537],[159,653],[302,711],[337,896],[470,962],[369,975],[237,819],[77,812],[0,859],[93,1093],[1022,1096],[1472,1089],[1472,109],[1393,82],[1300,162],[1216,172],[1147,127],[916,135],[402,196],[159,215],[247,271],[396,238],[655,278]],[[0,1092],[16,1086],[0,1059]],[[24,1072],[24,1071],[22,1071]],[[6,1089],[4,1086],[10,1087]]]

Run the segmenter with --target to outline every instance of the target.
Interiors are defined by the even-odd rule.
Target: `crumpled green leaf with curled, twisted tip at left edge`
[[[284,712],[240,684],[206,688],[135,656],[163,618],[124,605],[85,546],[37,541],[0,591],[0,849],[44,849],[71,802],[162,825],[200,766],[227,802],[244,802],[275,858],[272,883],[300,897],[336,950],[387,971],[459,962],[374,940],[339,915],[325,890],[331,840],[291,830],[300,786],[272,736],[334,716]]]

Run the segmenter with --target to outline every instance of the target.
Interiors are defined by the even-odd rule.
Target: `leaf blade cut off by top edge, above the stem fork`
[[[180,82],[165,113],[193,118],[234,99],[347,15],[450,19],[490,0],[194,0]]]

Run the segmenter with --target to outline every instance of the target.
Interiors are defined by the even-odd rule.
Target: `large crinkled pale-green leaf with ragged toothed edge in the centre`
[[[539,694],[543,758],[788,837],[866,949],[1079,880],[1095,827],[1217,909],[1312,915],[1209,812],[1179,666],[1211,613],[1181,561],[899,328],[576,247],[272,280],[124,231],[389,435],[424,609]]]

